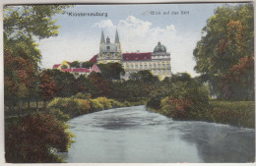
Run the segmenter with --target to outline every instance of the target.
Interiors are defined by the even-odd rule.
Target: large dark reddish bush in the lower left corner
[[[68,126],[47,114],[34,114],[5,130],[6,160],[11,163],[63,162],[52,149],[67,151],[73,142]]]

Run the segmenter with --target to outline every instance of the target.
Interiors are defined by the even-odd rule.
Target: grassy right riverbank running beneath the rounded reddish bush
[[[162,104],[162,103],[161,103]],[[162,106],[162,105],[161,105]],[[194,119],[176,119],[171,117],[166,107],[147,109],[160,113],[174,120],[195,120],[232,125],[243,128],[255,129],[255,102],[254,101],[210,101],[209,107]]]

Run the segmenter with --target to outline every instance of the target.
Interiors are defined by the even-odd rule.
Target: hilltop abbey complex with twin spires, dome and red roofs
[[[153,52],[123,53],[117,30],[115,32],[114,42],[111,42],[108,36],[105,38],[104,32],[101,31],[99,53],[96,54],[90,62],[95,63],[92,69],[62,69],[62,64],[56,64],[53,68],[77,74],[90,74],[91,72],[100,72],[96,64],[117,62],[120,63],[125,70],[125,76],[123,77],[125,80],[129,79],[131,73],[142,70],[151,71],[152,74],[158,76],[160,80],[171,76],[170,53],[167,52],[164,45],[158,42]],[[67,64],[70,63],[67,62]]]

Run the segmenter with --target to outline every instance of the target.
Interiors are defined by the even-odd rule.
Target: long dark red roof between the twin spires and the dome
[[[151,60],[152,52],[123,53],[123,61],[145,61]]]

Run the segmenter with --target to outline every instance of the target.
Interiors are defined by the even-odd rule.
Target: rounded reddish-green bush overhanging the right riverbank
[[[206,118],[209,93],[205,86],[179,86],[160,102],[160,113],[179,120]]]

